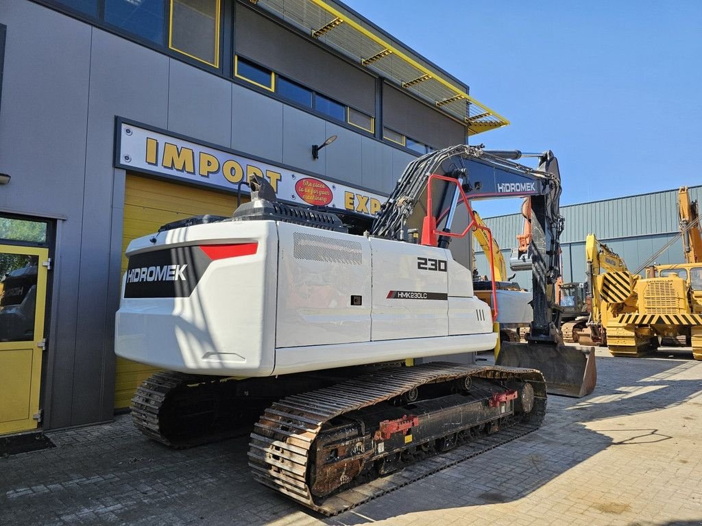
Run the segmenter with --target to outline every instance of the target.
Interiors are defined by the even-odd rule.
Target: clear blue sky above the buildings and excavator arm
[[[702,1],[344,1],[511,121],[472,144],[554,151],[562,205],[702,184]]]

